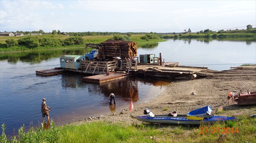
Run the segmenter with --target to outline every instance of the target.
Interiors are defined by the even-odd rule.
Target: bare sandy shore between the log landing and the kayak
[[[69,124],[88,123],[95,120],[122,122],[122,123],[141,123],[136,119],[130,118],[132,115],[143,115],[145,107],[149,107],[154,114],[168,114],[176,111],[178,114],[186,114],[189,111],[210,105],[215,112],[220,105],[227,102],[227,94],[230,91],[237,92],[244,84],[248,83],[242,92],[256,91],[256,69],[247,70],[206,70],[201,74],[207,74],[207,77],[195,80],[172,81],[166,86],[160,95],[143,104],[134,104],[134,109],[128,112],[129,106],[120,112],[108,113],[99,117],[72,122]],[[253,105],[255,107],[256,105]],[[223,115],[237,116],[241,114],[255,114],[256,111],[251,106],[238,106],[227,104],[224,107]],[[164,110],[168,108],[168,110]],[[216,114],[216,113],[215,113]],[[221,114],[219,114],[221,115]]]

